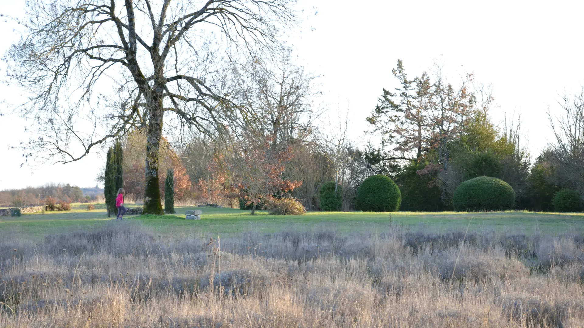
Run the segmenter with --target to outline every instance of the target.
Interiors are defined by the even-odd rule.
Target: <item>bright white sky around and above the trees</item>
[[[23,2],[2,1],[0,13],[23,15]],[[315,8],[314,8],[315,7]],[[464,72],[475,81],[492,83],[498,108],[522,116],[532,156],[551,140],[546,110],[559,114],[564,92],[584,84],[582,1],[304,1],[304,21],[289,31],[298,61],[318,79],[321,101],[332,117],[349,109],[350,133],[360,140],[382,88],[391,88],[391,69],[404,60],[411,76],[443,63],[456,82]],[[315,15],[315,11],[317,12]],[[0,52],[18,40],[12,23],[0,20]],[[2,72],[3,76],[4,72]],[[18,90],[0,85],[0,99]],[[6,114],[0,104],[0,190],[62,182],[95,186],[105,156],[94,154],[78,163],[20,168],[22,152],[11,149],[26,141],[27,123]]]

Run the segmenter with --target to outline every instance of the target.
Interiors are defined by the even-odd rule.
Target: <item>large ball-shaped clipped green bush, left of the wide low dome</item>
[[[390,177],[370,176],[357,189],[357,208],[366,212],[394,212],[399,210],[401,192]]]

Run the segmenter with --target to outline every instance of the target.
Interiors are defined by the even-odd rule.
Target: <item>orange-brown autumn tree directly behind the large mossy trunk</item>
[[[134,131],[124,142],[124,189],[126,193],[140,198],[144,196],[145,190],[145,147],[146,135],[140,131]],[[161,155],[159,158],[159,188],[161,197],[164,198],[164,181],[166,170],[174,170],[175,199],[181,200],[187,196],[191,182],[186,174],[185,166],[176,152],[172,149],[166,138],[162,137]]]

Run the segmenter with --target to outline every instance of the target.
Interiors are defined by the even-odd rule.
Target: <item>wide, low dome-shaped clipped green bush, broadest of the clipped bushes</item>
[[[505,211],[515,206],[515,191],[508,183],[479,176],[458,186],[453,196],[455,211]]]

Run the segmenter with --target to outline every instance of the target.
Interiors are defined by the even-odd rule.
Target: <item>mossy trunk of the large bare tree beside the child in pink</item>
[[[160,139],[162,138],[162,99],[153,99],[150,106],[150,122],[146,140],[146,189],[144,194],[144,214],[164,214],[160,197],[158,164]]]

